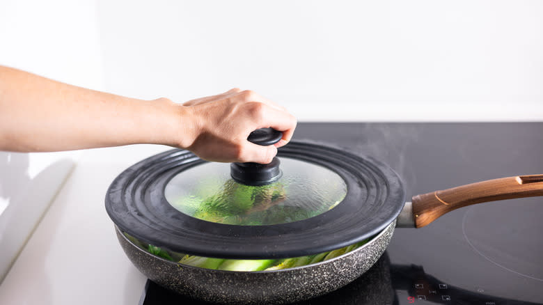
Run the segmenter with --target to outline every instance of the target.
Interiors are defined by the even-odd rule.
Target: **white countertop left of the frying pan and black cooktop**
[[[0,304],[138,304],[146,278],[118,244],[104,196],[121,171],[168,149],[87,150],[0,284]]]

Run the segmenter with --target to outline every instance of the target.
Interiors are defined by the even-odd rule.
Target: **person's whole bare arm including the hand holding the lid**
[[[0,66],[0,150],[39,152],[134,143],[192,150],[219,162],[266,163],[290,141],[295,118],[252,91],[233,89],[184,105],[166,98],[138,100],[63,84]],[[272,147],[246,141],[273,127]]]

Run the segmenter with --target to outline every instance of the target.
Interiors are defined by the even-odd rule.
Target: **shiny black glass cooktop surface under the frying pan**
[[[543,123],[299,123],[322,141],[390,165],[408,198],[543,173]],[[397,228],[370,271],[297,304],[543,304],[543,197],[481,203]],[[140,304],[206,304],[148,281]]]

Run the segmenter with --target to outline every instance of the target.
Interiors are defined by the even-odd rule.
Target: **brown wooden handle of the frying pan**
[[[421,228],[457,208],[512,198],[543,196],[543,175],[519,175],[462,185],[417,195],[413,202],[415,226]]]

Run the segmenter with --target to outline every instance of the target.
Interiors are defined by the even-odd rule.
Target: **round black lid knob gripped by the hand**
[[[251,132],[247,141],[260,146],[274,145],[283,137],[283,132],[273,128],[260,128]],[[279,159],[274,157],[269,164],[259,164],[254,162],[235,162],[230,164],[230,176],[243,185],[269,185],[281,177],[279,169]]]

